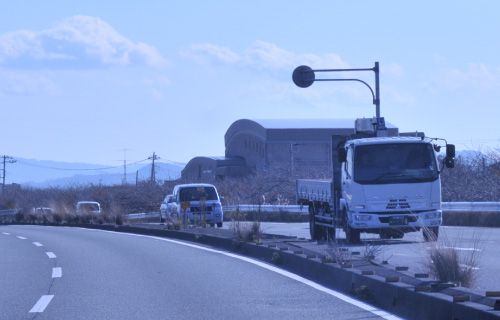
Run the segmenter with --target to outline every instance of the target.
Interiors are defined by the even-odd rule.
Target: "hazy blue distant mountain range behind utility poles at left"
[[[17,183],[37,188],[66,187],[71,185],[122,184],[123,166],[105,166],[88,163],[69,163],[48,160],[14,158],[15,163],[7,163],[6,184]],[[155,161],[156,181],[180,178],[185,163]],[[126,166],[126,182],[135,184],[136,180],[151,178],[151,161],[133,163]],[[3,169],[0,168],[0,169]],[[2,172],[0,172],[0,176]],[[1,182],[1,180],[0,180]]]

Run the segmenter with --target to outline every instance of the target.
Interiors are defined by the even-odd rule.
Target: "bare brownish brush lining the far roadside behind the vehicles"
[[[454,169],[442,172],[443,201],[499,201],[500,199],[500,149],[459,156]],[[90,218],[74,217],[76,202],[97,201],[101,204],[104,222],[115,221],[118,216],[158,212],[163,199],[173,187],[180,183],[207,182],[216,185],[224,196],[223,205],[294,205],[295,185],[299,178],[330,179],[324,170],[304,171],[301,168],[270,167],[254,174],[226,178],[222,181],[159,181],[139,182],[137,185],[74,185],[67,188],[33,188],[30,186],[8,185],[0,192],[0,210],[16,209],[23,221],[39,222],[45,219],[58,221],[87,221]],[[35,207],[50,207],[54,215],[48,217],[30,216]],[[299,214],[287,212],[266,213],[260,210],[239,212],[240,221],[300,221]],[[231,213],[226,219],[231,220]],[[446,225],[488,225],[500,226],[500,218],[481,214],[445,215]],[[120,218],[118,218],[120,219]]]

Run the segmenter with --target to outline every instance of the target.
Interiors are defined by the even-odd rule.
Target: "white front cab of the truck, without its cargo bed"
[[[437,238],[441,181],[431,139],[350,140],[341,160],[339,209],[349,240],[359,241],[361,231],[398,239],[421,228],[426,240]]]

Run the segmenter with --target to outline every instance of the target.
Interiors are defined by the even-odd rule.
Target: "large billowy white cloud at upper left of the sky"
[[[6,67],[87,68],[107,65],[163,66],[151,45],[134,43],[96,17],[77,15],[39,32],[0,35],[0,65]]]

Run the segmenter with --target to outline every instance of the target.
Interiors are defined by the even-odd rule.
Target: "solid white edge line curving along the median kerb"
[[[151,239],[155,239],[155,240],[161,240],[161,241],[166,241],[166,242],[171,242],[171,243],[175,243],[175,244],[180,244],[180,245],[183,245],[183,246],[187,246],[187,247],[191,247],[191,248],[196,248],[196,249],[200,249],[200,250],[205,250],[205,251],[209,251],[209,252],[213,252],[213,253],[218,253],[218,254],[222,254],[222,255],[225,255],[225,256],[228,256],[228,257],[231,257],[231,258],[235,258],[235,259],[239,259],[239,260],[243,260],[243,261],[246,261],[248,263],[252,263],[254,265],[257,265],[259,267],[262,267],[262,268],[265,268],[267,270],[270,270],[270,271],[273,271],[273,272],[276,272],[276,273],[279,273],[285,277],[288,277],[290,279],[293,279],[293,280],[296,280],[298,282],[301,282],[305,285],[308,285],[316,290],[319,290],[319,291],[323,291],[324,293],[327,293],[331,296],[334,296],[336,297],[337,299],[340,299],[344,302],[347,302],[347,303],[350,303],[358,308],[361,308],[363,310],[366,310],[368,312],[371,312],[379,317],[382,317],[384,319],[387,319],[387,320],[401,320],[402,318],[400,317],[397,317],[387,311],[384,311],[384,310],[381,310],[377,307],[374,307],[372,305],[369,305],[367,303],[364,303],[364,302],[361,302],[359,300],[356,300],[356,299],[353,299],[343,293],[340,293],[338,291],[335,291],[335,290],[332,290],[332,289],[329,289],[327,287],[324,287],[316,282],[313,282],[311,280],[308,280],[306,278],[303,278],[301,276],[298,276],[296,274],[293,274],[291,272],[288,272],[288,271],[285,271],[285,270],[282,270],[280,268],[277,268],[277,267],[274,267],[274,266],[271,266],[269,264],[266,264],[266,263],[263,263],[261,261],[257,261],[257,260],[254,260],[254,259],[251,259],[251,258],[247,258],[247,257],[243,257],[243,256],[239,256],[239,255],[236,255],[236,254],[233,254],[233,253],[229,253],[229,252],[224,252],[224,251],[220,251],[220,250],[216,250],[216,249],[211,249],[211,248],[205,248],[205,247],[201,247],[199,245],[195,245],[195,244],[191,244],[191,243],[187,243],[187,242],[182,242],[182,241],[178,241],[178,240],[172,240],[172,239],[166,239],[166,238],[160,238],[160,237],[155,237],[155,236],[146,236],[146,235],[141,235],[141,234],[133,234],[133,233],[123,233],[123,232],[116,232],[116,231],[107,231],[107,230],[99,230],[99,229],[85,229],[85,228],[80,228],[82,230],[91,230],[91,231],[100,231],[100,232],[108,232],[108,233],[115,233],[115,234],[122,234],[122,235],[129,235],[129,236],[135,236],[135,237],[144,237],[144,238],[151,238]]]

